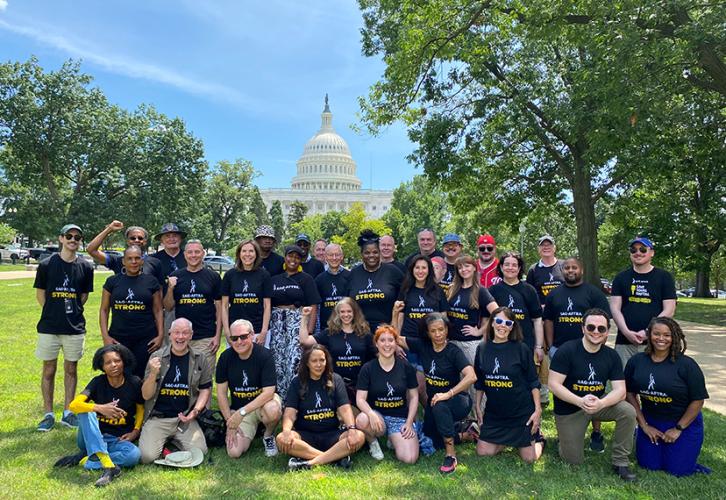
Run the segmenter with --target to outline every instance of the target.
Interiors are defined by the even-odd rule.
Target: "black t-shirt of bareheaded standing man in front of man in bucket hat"
[[[177,318],[192,322],[194,340],[214,337],[217,333],[215,300],[222,300],[222,279],[217,272],[202,268],[191,272],[180,269],[171,273],[177,278],[174,309]]]

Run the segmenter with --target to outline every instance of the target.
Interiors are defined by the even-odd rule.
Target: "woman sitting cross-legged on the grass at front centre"
[[[341,430],[339,417],[346,430]],[[292,455],[288,469],[336,461],[349,468],[350,455],[364,442],[365,436],[355,427],[345,383],[333,373],[330,353],[324,346],[313,345],[303,353],[298,375],[290,383],[282,432],[277,435],[280,451]]]

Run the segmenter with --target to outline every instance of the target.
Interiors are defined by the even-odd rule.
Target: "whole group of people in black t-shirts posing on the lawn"
[[[590,422],[590,448],[603,451],[601,422],[614,421],[612,464],[622,479],[635,479],[636,424],[642,467],[707,470],[697,458],[708,393],[671,319],[673,278],[651,264],[648,238],[630,242],[632,266],[615,278],[608,301],[583,281],[578,258],[556,257],[549,235],[527,269],[516,252],[497,257],[489,234],[472,257],[460,236],[445,235],[439,250],[424,229],[418,251],[399,262],[390,235],[365,230],[361,263],[347,269],[339,245],[300,234],[280,255],[274,231],[261,226],[220,278],[204,266],[201,242],[186,240],[175,224],[154,236],[163,246],[156,253],[147,252],[148,232],[136,226],[125,229],[121,257],[103,252],[103,241],[120,230],[113,221],[87,246],[114,274],[103,286],[104,346],[93,358],[103,373],[78,395],[83,306],[93,291],[93,268],[76,255],[80,227],[61,229],[61,251],[40,263],[35,280],[46,411],[38,430],[55,425],[63,349],[61,424],[78,427],[79,452],[57,465],[101,469],[98,486],[121,467],[163,461],[174,447],[206,453],[197,417],[213,387],[228,455],[241,456],[261,434],[267,456],[291,456],[290,470],[348,466],[366,443],[381,460],[382,437],[404,463],[444,449],[442,473],[455,471],[456,446],[466,441],[481,456],[517,448],[531,463],[546,445],[540,424],[549,392],[566,462],[583,462]],[[614,350],[605,345],[611,317]],[[223,341],[227,349],[217,356]]]

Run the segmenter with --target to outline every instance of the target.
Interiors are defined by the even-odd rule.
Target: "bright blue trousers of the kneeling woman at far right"
[[[677,421],[659,420],[645,415],[648,425],[661,432],[672,429]],[[696,463],[703,445],[703,416],[698,416],[686,427],[674,443],[659,440],[653,444],[640,427],[635,436],[635,456],[644,469],[662,470],[674,476],[689,476],[695,472],[710,472]]]

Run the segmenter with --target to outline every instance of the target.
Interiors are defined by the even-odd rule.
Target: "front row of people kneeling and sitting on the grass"
[[[403,303],[396,303],[394,313],[402,308]],[[255,343],[249,321],[230,325],[230,347],[220,356],[215,377],[230,457],[245,453],[260,427],[265,454],[280,450],[290,455],[290,470],[346,466],[366,442],[380,460],[377,439],[383,437],[404,463],[443,448],[443,473],[456,469],[456,445],[462,441],[476,441],[480,456],[506,447],[517,448],[528,463],[541,456],[546,440],[540,432],[540,381],[533,352],[522,342],[510,309],[491,312],[473,365],[449,342],[449,321],[441,313],[426,315],[427,335],[414,338],[399,334],[398,314],[393,326],[381,324],[370,332],[349,298],[334,307],[328,328],[311,336],[311,312],[301,311],[299,343],[305,349],[284,401],[276,392],[272,351]],[[707,472],[697,458],[704,436],[701,408],[708,394],[700,368],[684,354],[686,341],[678,323],[653,318],[645,352],[625,370],[615,351],[605,346],[609,327],[607,312],[590,309],[583,317],[582,338],[562,345],[552,359],[548,385],[560,456],[582,463],[590,421],[613,421],[612,465],[622,479],[635,479],[629,455],[636,424],[640,466],[679,476]],[[209,405],[213,368],[206,355],[190,346],[192,334],[191,322],[176,319],[169,344],[151,355],[143,383],[132,375],[134,356],[126,347],[99,349],[93,367],[103,375],[92,379],[71,406],[79,415],[80,451],[56,465],[102,469],[96,484],[103,486],[120,474],[120,467],[163,460],[169,443],[206,453],[196,417]],[[346,366],[341,357],[334,361],[326,346],[336,343],[349,350],[351,343],[367,346],[362,366]],[[421,395],[416,366],[406,360],[412,353],[425,381]],[[416,422],[419,403],[422,425]],[[470,414],[478,425],[466,425]],[[137,438],[138,448],[132,444]]]

